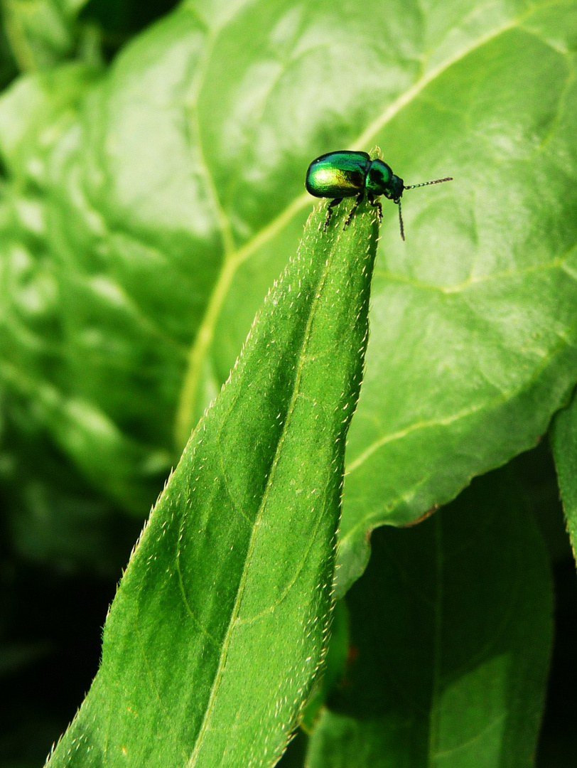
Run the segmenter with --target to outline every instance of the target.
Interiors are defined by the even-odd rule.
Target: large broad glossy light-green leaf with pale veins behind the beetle
[[[455,180],[407,192],[406,243],[384,201],[341,592],[374,527],[534,445],[577,379],[576,31],[574,0],[188,0],[130,45],[40,150],[64,353],[45,376],[127,440],[102,492],[142,484],[135,441],[176,461],[294,253],[308,163],[343,147]]]

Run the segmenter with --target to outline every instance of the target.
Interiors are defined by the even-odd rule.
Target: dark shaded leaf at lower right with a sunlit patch
[[[513,472],[373,535],[349,591],[356,659],[307,768],[529,768],[552,641],[549,564]]]

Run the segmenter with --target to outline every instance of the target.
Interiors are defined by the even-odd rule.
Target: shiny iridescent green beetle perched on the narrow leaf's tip
[[[403,216],[401,214],[401,197],[404,190],[414,190],[416,187],[427,187],[429,184],[441,184],[443,181],[452,181],[453,177],[424,181],[423,184],[410,184],[405,186],[404,181],[395,176],[391,167],[376,157],[366,152],[351,152],[340,150],[321,154],[308,166],[305,187],[308,194],[315,197],[332,197],[328,205],[325,232],[331,220],[332,209],[338,205],[343,197],[357,197],[351,212],[345,221],[345,228],[354,216],[358,204],[366,191],[369,203],[378,209],[379,220],[383,218],[381,203],[375,197],[387,197],[393,200],[399,207],[399,225],[401,237],[404,240]]]

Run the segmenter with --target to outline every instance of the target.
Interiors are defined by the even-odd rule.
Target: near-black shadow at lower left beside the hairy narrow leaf
[[[127,520],[126,528],[123,564],[140,521]],[[2,539],[0,766],[41,768],[97,672],[116,579],[32,565]]]

